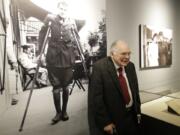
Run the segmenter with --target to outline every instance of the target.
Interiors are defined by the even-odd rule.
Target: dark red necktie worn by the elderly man
[[[122,68],[118,68],[118,72],[119,72],[120,87],[121,87],[121,90],[122,90],[124,101],[125,101],[125,103],[127,105],[130,102],[130,96],[129,96],[129,92],[128,92],[128,87],[127,87],[126,79],[125,79],[125,77],[122,74]]]

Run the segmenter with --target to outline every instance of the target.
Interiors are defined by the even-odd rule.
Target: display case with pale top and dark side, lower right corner
[[[142,128],[147,134],[180,134],[180,91],[140,92]]]

